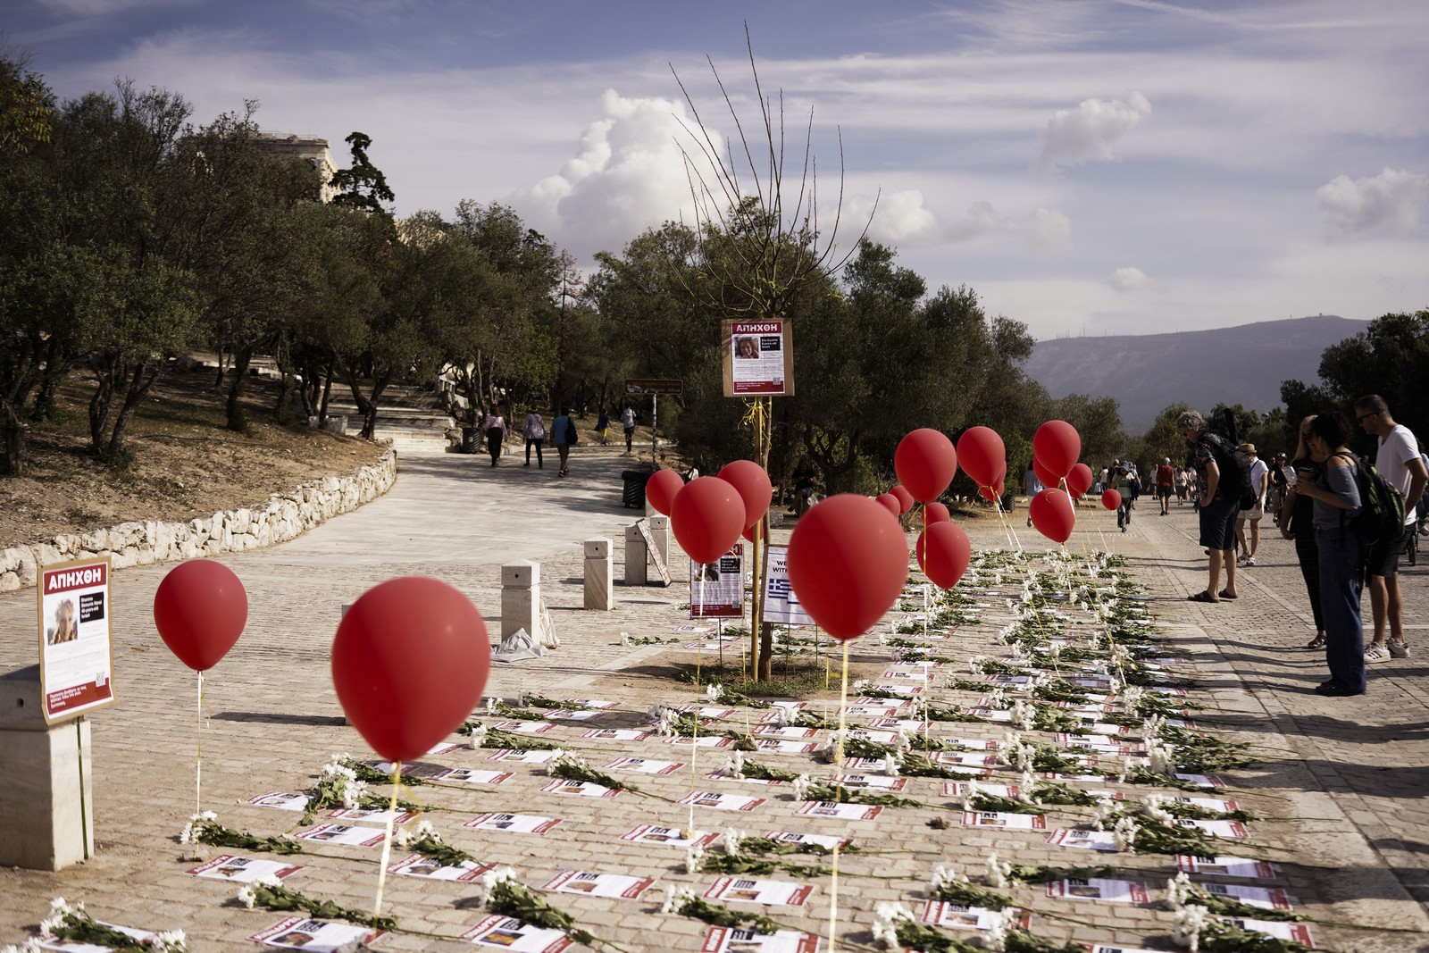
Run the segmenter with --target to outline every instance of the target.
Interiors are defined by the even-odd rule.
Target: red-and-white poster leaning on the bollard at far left
[[[113,704],[109,559],[46,566],[37,590],[46,724]]]

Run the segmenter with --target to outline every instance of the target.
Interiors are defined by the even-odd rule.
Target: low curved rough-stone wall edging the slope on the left
[[[224,510],[187,523],[120,523],[89,533],[64,533],[36,546],[0,549],[0,593],[34,586],[40,566],[77,559],[109,556],[111,567],[129,569],[276,546],[377,499],[396,480],[397,454],[389,450],[352,476],[312,480],[292,493],[269,497],[267,506]]]

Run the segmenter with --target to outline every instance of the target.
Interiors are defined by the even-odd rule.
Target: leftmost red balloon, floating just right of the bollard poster
[[[154,593],[154,627],[169,652],[194,672],[219,664],[243,634],[249,594],[233,570],[191,559],[169,570]]]

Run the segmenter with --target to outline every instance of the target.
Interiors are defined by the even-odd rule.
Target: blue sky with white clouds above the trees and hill
[[[782,90],[820,223],[1037,337],[1429,307],[1429,3],[11,0],[61,96],[119,76],[370,156],[399,214],[504,201],[589,263],[692,221],[706,123]],[[850,224],[850,221],[857,224]]]

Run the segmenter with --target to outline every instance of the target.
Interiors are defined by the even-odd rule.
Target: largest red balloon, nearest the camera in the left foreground
[[[347,720],[389,762],[413,762],[482,700],[486,623],[436,579],[389,579],[354,602],[333,640],[333,687]]]

